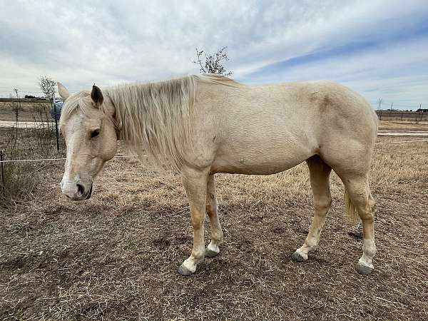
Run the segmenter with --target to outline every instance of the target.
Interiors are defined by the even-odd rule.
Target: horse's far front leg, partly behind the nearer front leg
[[[208,176],[207,183],[207,201],[205,210],[210,218],[211,227],[211,242],[205,250],[206,258],[213,258],[220,253],[218,245],[223,243],[223,231],[221,230],[220,220],[217,213],[217,197],[215,196],[215,180],[214,175]]]

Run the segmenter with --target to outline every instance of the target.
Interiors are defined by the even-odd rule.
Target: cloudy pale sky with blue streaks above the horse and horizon
[[[428,1],[0,0],[0,96],[198,73],[227,46],[248,85],[330,79],[374,108],[428,108]]]

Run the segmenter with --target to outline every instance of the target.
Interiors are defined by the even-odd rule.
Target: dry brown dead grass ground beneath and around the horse
[[[335,174],[320,247],[306,263],[290,259],[312,218],[304,163],[269,176],[216,175],[225,243],[190,277],[177,272],[192,246],[177,175],[115,159],[92,198],[71,203],[58,185],[63,163],[36,166],[33,195],[0,208],[1,320],[428,318],[427,142],[377,145],[378,253],[368,276],[353,269],[362,236],[345,225]]]

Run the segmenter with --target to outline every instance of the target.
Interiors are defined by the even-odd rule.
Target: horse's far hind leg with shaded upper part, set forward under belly
[[[325,217],[332,203],[330,195],[330,172],[332,168],[322,161],[320,156],[312,156],[307,159],[306,163],[309,168],[310,185],[314,195],[315,213],[305,243],[291,255],[292,260],[297,262],[307,260],[307,254],[317,248]]]

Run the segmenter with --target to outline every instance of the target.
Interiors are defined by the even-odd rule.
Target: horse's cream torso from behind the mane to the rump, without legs
[[[194,146],[215,172],[277,173],[337,138],[372,144],[373,114],[364,98],[332,81],[203,83],[195,97]]]

